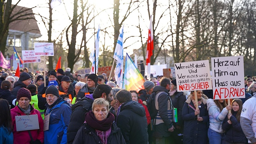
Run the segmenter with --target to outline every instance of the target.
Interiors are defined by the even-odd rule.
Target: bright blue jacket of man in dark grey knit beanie
[[[44,131],[44,144],[66,144],[67,129],[71,116],[68,103],[59,98],[55,105],[46,103],[45,116],[50,113],[49,130]]]

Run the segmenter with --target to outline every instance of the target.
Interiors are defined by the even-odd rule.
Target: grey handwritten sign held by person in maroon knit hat
[[[37,114],[25,115],[25,116],[15,116],[16,129],[17,131],[25,130],[38,130],[39,122]]]

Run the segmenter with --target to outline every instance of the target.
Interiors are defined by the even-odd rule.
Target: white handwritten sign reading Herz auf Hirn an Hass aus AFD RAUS
[[[217,57],[211,61],[214,99],[245,98],[243,56]]]

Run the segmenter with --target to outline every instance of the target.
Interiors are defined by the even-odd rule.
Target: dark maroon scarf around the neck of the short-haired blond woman
[[[112,122],[114,121],[114,115],[111,112],[108,112],[108,116],[105,120],[98,121],[96,120],[94,113],[89,111],[85,114],[85,121],[95,130],[107,131],[111,128]]]

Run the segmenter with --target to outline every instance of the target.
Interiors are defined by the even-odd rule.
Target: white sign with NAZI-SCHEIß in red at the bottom
[[[212,89],[209,60],[175,63],[174,65],[178,91]]]

